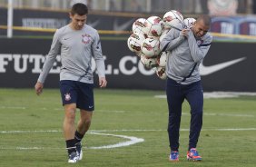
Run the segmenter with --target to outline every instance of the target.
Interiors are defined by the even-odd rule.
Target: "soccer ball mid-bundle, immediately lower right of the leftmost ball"
[[[156,57],[160,54],[160,41],[154,37],[148,37],[144,39],[142,45],[142,52],[147,58]]]

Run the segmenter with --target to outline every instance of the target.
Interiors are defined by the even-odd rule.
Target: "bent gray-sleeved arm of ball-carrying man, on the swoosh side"
[[[202,44],[197,44],[192,31],[190,31],[188,35],[189,47],[192,54],[192,59],[195,63],[201,62],[210,49],[212,43],[212,35],[208,33],[205,35],[206,36],[203,37],[204,41],[202,41]]]

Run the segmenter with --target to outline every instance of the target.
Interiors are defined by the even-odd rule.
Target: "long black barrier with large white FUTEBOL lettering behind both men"
[[[50,39],[0,39],[0,87],[33,87],[51,43]],[[165,81],[144,68],[126,41],[102,40],[102,45],[109,88],[164,90]],[[256,92],[254,48],[253,43],[212,43],[200,66],[204,91]],[[58,56],[45,87],[58,87],[60,65]],[[97,83],[96,75],[94,79]]]

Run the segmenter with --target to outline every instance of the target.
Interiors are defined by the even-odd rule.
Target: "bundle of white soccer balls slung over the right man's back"
[[[153,69],[157,76],[166,79],[165,66],[167,52],[162,52],[160,44],[164,36],[182,23],[185,27],[192,27],[195,19],[186,18],[180,12],[171,10],[163,15],[139,18],[133,23],[133,34],[127,40],[129,49],[137,54],[146,68]]]

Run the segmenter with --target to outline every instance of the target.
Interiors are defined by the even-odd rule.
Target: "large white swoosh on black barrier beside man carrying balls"
[[[215,64],[211,66],[204,66],[203,64],[199,65],[199,70],[200,74],[203,75],[208,75],[208,74],[213,74],[215,72],[218,72],[224,68],[227,68],[228,66],[231,66],[232,64],[237,64],[243,60],[245,60],[246,57],[241,57],[239,59],[231,60],[229,62],[224,62],[222,64]]]

